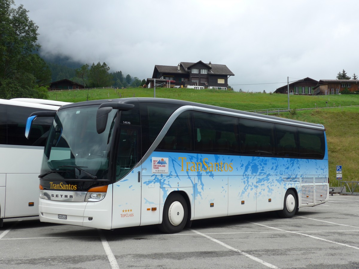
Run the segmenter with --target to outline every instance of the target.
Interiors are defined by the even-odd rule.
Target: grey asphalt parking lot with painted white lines
[[[0,268],[359,268],[359,196],[329,197],[291,219],[275,213],[114,231],[4,220]]]

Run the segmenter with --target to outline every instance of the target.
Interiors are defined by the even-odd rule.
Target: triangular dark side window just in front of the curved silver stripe
[[[140,103],[142,156],[157,138],[164,124],[180,105]]]

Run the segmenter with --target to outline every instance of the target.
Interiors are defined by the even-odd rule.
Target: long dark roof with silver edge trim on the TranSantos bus
[[[164,104],[174,104],[174,105],[181,105],[181,106],[191,105],[194,107],[201,107],[201,108],[236,113],[236,114],[238,114],[238,116],[247,115],[250,117],[255,117],[258,120],[262,119],[263,121],[271,121],[272,120],[272,121],[276,121],[276,122],[283,122],[283,124],[288,124],[288,125],[300,124],[300,125],[307,125],[309,128],[312,127],[315,129],[324,129],[323,125],[318,124],[318,123],[296,121],[293,119],[285,119],[285,118],[280,118],[280,117],[275,117],[275,116],[270,116],[270,115],[262,115],[262,114],[258,114],[258,113],[247,112],[247,111],[242,111],[242,110],[237,110],[237,109],[216,107],[214,105],[206,105],[206,104],[200,104],[200,103],[195,103],[195,102],[176,100],[176,99],[166,99],[166,98],[147,98],[147,97],[134,98],[134,97],[131,97],[131,98],[121,98],[121,99],[92,100],[92,101],[84,101],[84,102],[79,102],[79,103],[71,103],[68,105],[64,105],[60,109],[69,108],[69,107],[86,106],[86,105],[99,105],[99,104],[108,103],[108,102],[123,103],[123,104],[164,103]]]

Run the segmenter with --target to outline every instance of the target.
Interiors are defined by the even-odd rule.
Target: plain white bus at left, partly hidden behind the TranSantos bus
[[[38,175],[43,147],[53,118],[34,120],[25,137],[29,115],[56,111],[66,102],[18,98],[0,99],[0,227],[4,218],[38,216]]]

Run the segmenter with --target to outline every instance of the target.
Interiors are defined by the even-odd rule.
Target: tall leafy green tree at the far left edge
[[[0,98],[43,98],[38,87],[50,82],[51,74],[38,55],[37,25],[23,5],[0,0]],[[41,88],[41,89],[40,89]]]

